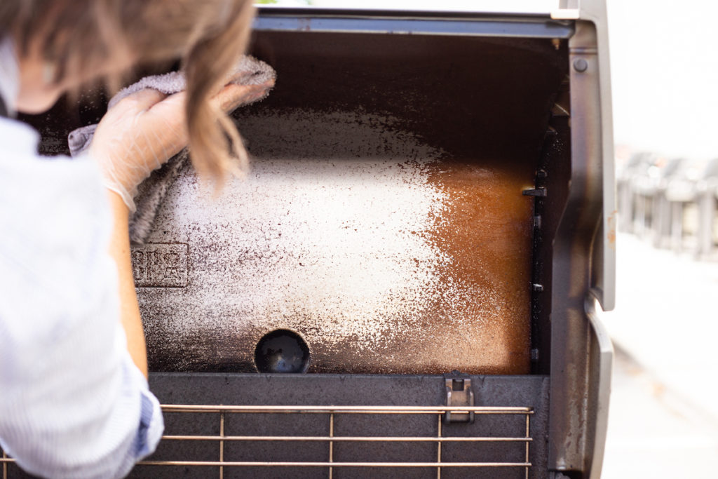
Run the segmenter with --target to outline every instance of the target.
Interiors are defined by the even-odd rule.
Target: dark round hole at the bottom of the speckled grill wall
[[[260,373],[304,373],[309,367],[309,346],[294,331],[274,330],[257,343],[254,364]]]

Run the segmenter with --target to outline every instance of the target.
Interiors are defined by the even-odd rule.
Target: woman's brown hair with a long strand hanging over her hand
[[[0,33],[20,52],[38,47],[55,83],[96,77],[108,62],[181,59],[192,162],[221,180],[246,169],[247,157],[233,122],[208,100],[246,50],[253,14],[251,0],[1,0]]]

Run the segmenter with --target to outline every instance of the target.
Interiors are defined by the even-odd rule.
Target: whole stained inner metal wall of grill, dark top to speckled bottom
[[[561,83],[551,42],[265,32],[255,45],[279,80],[236,115],[250,177],[212,203],[185,172],[147,246],[189,251],[186,287],[138,289],[151,368],[254,371],[258,340],[289,329],[310,373],[528,373],[522,191]]]

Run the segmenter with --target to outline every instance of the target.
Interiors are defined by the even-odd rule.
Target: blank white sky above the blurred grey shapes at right
[[[312,4],[550,11],[558,0],[312,0]],[[607,0],[607,4],[616,143],[669,156],[718,157],[718,1]]]

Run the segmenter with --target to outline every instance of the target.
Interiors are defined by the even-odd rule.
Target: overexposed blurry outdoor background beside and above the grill
[[[545,0],[266,0],[537,11]],[[718,2],[607,0],[616,143],[617,306],[604,478],[716,478]]]

